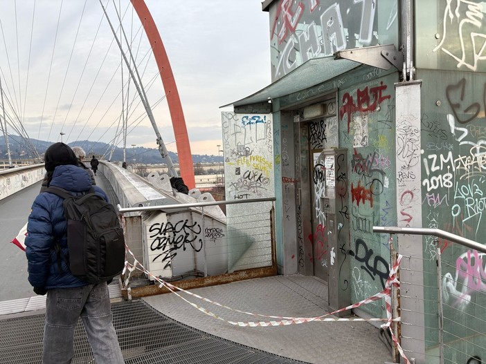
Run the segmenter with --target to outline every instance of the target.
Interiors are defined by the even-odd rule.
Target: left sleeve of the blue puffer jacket
[[[49,274],[53,229],[51,213],[44,194],[35,199],[28,217],[26,257],[28,281],[33,287],[43,288]]]

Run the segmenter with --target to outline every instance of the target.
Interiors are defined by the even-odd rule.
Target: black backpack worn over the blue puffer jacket
[[[100,283],[120,274],[125,265],[125,238],[114,206],[93,187],[80,196],[57,186],[46,192],[64,198],[69,261],[60,253],[58,242],[55,249],[73,276]]]

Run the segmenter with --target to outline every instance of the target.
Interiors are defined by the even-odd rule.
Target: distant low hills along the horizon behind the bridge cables
[[[35,157],[32,147],[23,138],[18,135],[9,135],[8,144],[10,146],[10,155],[12,159],[31,159]],[[43,140],[30,139],[30,145],[35,146],[35,149],[42,156],[44,151],[48,146],[53,144],[52,142],[45,142]],[[87,153],[87,159],[91,159],[91,155],[96,154],[97,156],[104,155],[105,159],[109,159],[111,152],[111,146],[102,142],[89,142],[88,140],[78,140],[76,142],[68,143],[69,146],[80,146]],[[126,160],[129,163],[143,163],[143,164],[161,164],[166,163],[165,158],[159,153],[159,149],[155,148],[145,148],[143,146],[127,147],[125,150]],[[172,163],[178,164],[179,157],[177,153],[169,151],[170,159]],[[5,139],[0,137],[0,160],[8,159],[7,147],[5,144]],[[111,161],[113,162],[123,162],[123,148],[115,147],[113,155],[111,156]],[[218,155],[192,155],[192,162],[194,163],[215,163],[223,162],[223,157]]]

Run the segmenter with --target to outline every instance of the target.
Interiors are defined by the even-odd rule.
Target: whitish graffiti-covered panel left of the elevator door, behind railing
[[[272,120],[271,114],[222,113],[226,200],[242,202],[226,207],[227,238],[231,242],[228,246],[230,272],[248,264],[255,268],[271,263],[268,260],[271,255],[267,253],[263,255],[267,258],[260,259],[249,256],[248,252],[269,249],[273,227],[269,224],[260,227],[253,219],[261,213],[268,214],[272,203],[244,202],[275,196]],[[241,262],[245,262],[244,265]]]

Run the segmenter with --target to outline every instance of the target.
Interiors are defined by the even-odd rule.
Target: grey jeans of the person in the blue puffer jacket
[[[42,363],[71,363],[74,330],[80,317],[96,363],[124,363],[112,323],[106,283],[47,292]]]

